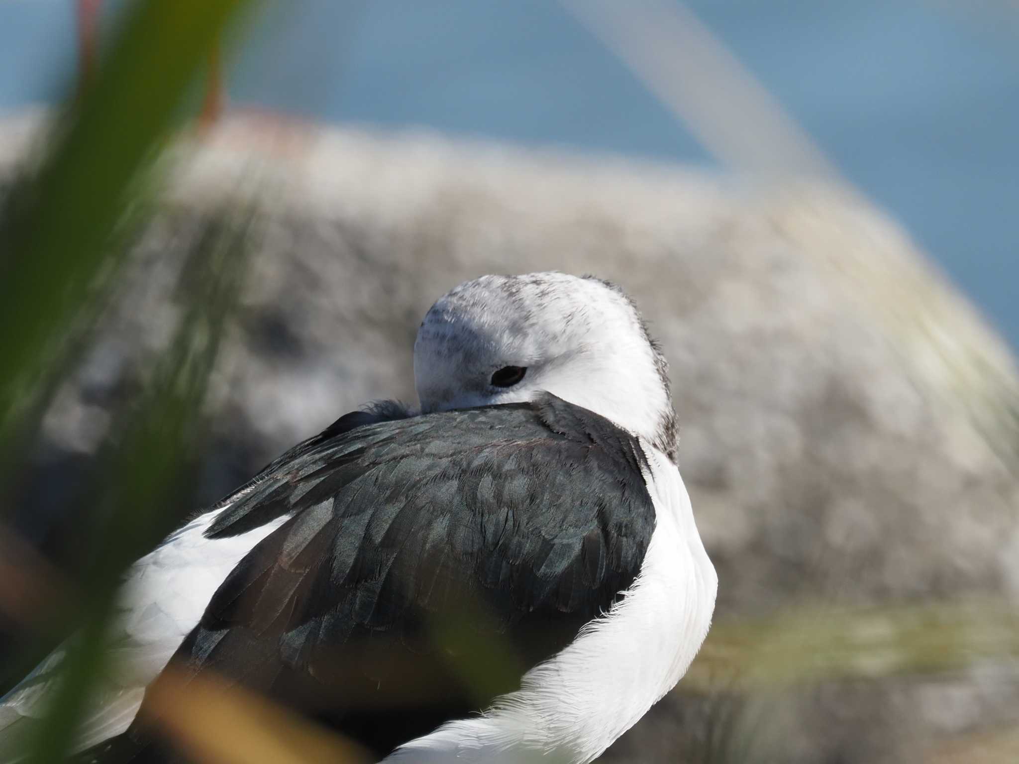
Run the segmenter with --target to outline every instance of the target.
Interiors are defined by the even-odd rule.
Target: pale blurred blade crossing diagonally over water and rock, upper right
[[[941,404],[965,413],[1003,466],[1019,475],[1019,385],[1010,348],[928,267],[903,257],[895,238],[872,235],[855,216],[836,212],[847,202],[870,205],[689,4],[559,4],[708,152],[737,173],[770,183],[772,193],[782,190],[784,234],[830,271],[865,314],[880,319],[906,363],[922,365],[925,379],[937,381]],[[813,182],[803,186],[804,178]],[[846,236],[848,228],[859,233]]]

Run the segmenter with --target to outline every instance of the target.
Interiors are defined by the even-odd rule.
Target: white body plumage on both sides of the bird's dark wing
[[[524,676],[520,691],[483,715],[449,722],[385,759],[390,764],[588,762],[629,729],[686,672],[714,608],[717,579],[701,544],[679,471],[644,445],[645,475],[656,522],[640,576],[621,600],[550,660]],[[205,529],[222,509],[207,512],[136,562],[120,596],[111,633],[114,673],[93,698],[77,749],[124,731],[146,686],[195,627],[216,589],[237,562],[285,522],[209,541]],[[64,648],[41,663],[0,701],[0,763],[38,723],[57,679]],[[20,731],[20,730],[17,730]]]

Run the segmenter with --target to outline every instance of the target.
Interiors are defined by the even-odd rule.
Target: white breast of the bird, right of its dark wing
[[[389,764],[582,764],[601,755],[686,673],[707,635],[717,577],[679,470],[643,444],[656,523],[641,572],[604,616],[473,719],[400,747]]]

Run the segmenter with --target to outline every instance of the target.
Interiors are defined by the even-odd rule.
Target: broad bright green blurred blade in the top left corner
[[[191,85],[250,0],[130,4],[84,97],[58,121],[35,176],[0,219],[0,439],[81,308],[128,193]]]

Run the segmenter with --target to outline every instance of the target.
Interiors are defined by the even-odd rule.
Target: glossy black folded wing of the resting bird
[[[516,689],[479,699],[464,684],[472,640],[533,665],[630,587],[654,527],[642,458],[629,434],[552,395],[303,444],[209,529],[227,538],[289,514],[226,577],[176,658],[386,753]],[[386,704],[408,698],[422,713],[393,722]]]

